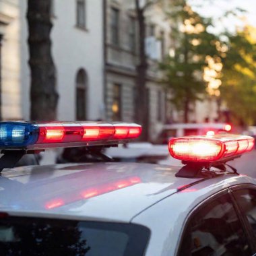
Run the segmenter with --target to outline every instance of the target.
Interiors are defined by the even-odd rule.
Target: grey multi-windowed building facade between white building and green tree
[[[106,0],[104,15],[105,102],[109,121],[134,121],[135,79],[139,63],[139,34],[135,1]],[[152,6],[145,12],[148,56],[148,120],[150,138],[166,122],[166,94],[159,62],[168,54],[170,26],[164,11]]]

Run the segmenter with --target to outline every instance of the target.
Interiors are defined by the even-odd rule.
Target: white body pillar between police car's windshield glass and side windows
[[[146,256],[176,255],[183,228],[191,211],[214,194],[241,184],[256,185],[256,181],[235,174],[208,179],[167,197],[133,218],[132,223],[148,226],[152,230]]]

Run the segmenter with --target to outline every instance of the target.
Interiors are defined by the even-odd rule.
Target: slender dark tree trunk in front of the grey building
[[[148,96],[146,89],[147,82],[147,57],[145,49],[146,26],[143,8],[139,7],[139,0],[135,0],[137,21],[139,24],[139,63],[137,65],[136,77],[136,106],[135,106],[135,119],[136,122],[142,125],[143,132],[141,140],[148,140],[149,137],[149,121],[148,121]]]

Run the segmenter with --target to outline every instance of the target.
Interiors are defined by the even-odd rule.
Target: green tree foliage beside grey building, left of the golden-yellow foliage
[[[166,57],[160,67],[165,73],[165,83],[172,92],[172,102],[177,110],[183,110],[188,121],[189,106],[205,94],[203,67],[207,56],[218,58],[218,37],[210,32],[212,20],[203,18],[187,4],[186,0],[174,0],[168,13],[172,24],[172,55]]]

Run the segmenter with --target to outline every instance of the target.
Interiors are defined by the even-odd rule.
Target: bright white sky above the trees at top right
[[[252,26],[256,26],[256,0],[189,0],[192,6],[196,6],[200,3],[203,7],[198,7],[195,10],[205,17],[220,18],[227,10],[234,9],[236,7],[245,9],[247,12],[243,13],[248,23]],[[236,30],[236,26],[240,26],[242,23],[235,18],[229,17],[222,22],[216,23],[216,32],[221,31],[223,28],[228,28],[230,31]]]

